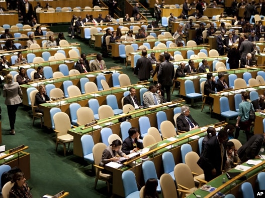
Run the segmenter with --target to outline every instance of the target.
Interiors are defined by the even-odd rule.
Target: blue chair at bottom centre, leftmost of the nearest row
[[[140,191],[138,190],[135,174],[131,170],[126,170],[122,173],[122,182],[125,197],[129,194],[135,193],[135,196],[139,196]],[[133,196],[132,196],[133,197]]]

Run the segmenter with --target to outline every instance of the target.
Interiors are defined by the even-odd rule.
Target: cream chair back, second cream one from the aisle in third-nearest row
[[[95,120],[93,110],[89,107],[80,107],[76,111],[77,124],[84,125]]]

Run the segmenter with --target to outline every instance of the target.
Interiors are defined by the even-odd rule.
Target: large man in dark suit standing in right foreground
[[[210,181],[222,174],[226,162],[224,142],[226,142],[227,138],[227,132],[222,129],[218,136],[209,139],[204,146],[203,153],[197,163],[203,169],[206,181]]]

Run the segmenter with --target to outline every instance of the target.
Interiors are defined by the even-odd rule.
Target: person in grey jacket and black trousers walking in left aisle
[[[19,104],[22,103],[20,96],[22,97],[22,91],[19,83],[13,82],[13,76],[7,75],[7,84],[3,88],[3,96],[6,98],[5,104],[8,108],[8,117],[10,123],[10,134],[15,135],[15,122],[16,122],[16,111]]]

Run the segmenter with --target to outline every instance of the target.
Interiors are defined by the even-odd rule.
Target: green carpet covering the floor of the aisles
[[[58,28],[58,31],[65,28]],[[67,36],[67,33],[64,33]],[[69,42],[78,42],[82,49],[82,53],[98,52],[101,49],[90,48],[87,44],[78,39],[70,40]],[[125,69],[120,60],[113,61],[112,58],[104,59],[107,67],[120,65],[124,69],[123,73],[130,76],[131,82],[138,81],[136,76],[132,75],[130,67]],[[150,84],[152,85],[152,83]],[[3,93],[3,90],[1,90]],[[176,91],[172,99],[176,98]],[[52,130],[45,127],[40,128],[40,120],[35,121],[32,126],[32,111],[29,107],[19,107],[17,111],[17,120],[15,124],[16,135],[9,135],[9,119],[7,115],[7,107],[4,105],[4,98],[0,97],[2,106],[2,137],[3,145],[6,149],[11,149],[16,146],[25,144],[29,146],[26,152],[30,153],[31,157],[31,178],[27,180],[32,188],[33,197],[41,197],[44,194],[56,194],[61,190],[68,191],[68,197],[109,197],[107,194],[107,185],[103,181],[98,181],[97,189],[94,189],[95,177],[90,176],[89,169],[91,165],[86,166],[86,163],[81,157],[72,154],[72,151],[63,155],[62,145],[58,146],[58,152],[55,151],[55,134]],[[205,107],[204,112],[201,112],[201,102],[196,102],[196,106],[191,108],[191,114],[200,126],[216,123],[219,121],[219,116],[210,117],[208,107]],[[235,123],[235,120],[232,121]],[[245,142],[245,136],[240,134],[240,140]],[[72,148],[72,145],[70,146]]]

